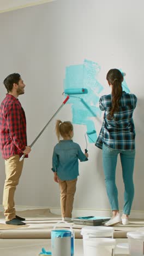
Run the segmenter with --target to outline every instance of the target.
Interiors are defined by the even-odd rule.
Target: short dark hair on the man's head
[[[20,74],[13,73],[4,79],[3,83],[8,92],[13,90],[13,84],[19,84],[20,78]]]

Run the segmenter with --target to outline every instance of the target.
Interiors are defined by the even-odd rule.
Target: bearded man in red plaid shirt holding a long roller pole
[[[5,159],[5,184],[3,191],[3,206],[6,224],[25,225],[16,216],[14,193],[22,172],[21,155],[31,152],[27,147],[26,117],[17,97],[25,93],[25,84],[20,74],[14,73],[4,79],[8,94],[0,107],[0,147]]]

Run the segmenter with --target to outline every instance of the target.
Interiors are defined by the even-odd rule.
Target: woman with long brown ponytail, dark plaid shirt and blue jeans
[[[112,89],[110,95],[100,98],[99,107],[104,112],[104,121],[95,146],[103,149],[103,168],[106,191],[113,216],[106,226],[122,222],[128,224],[131,205],[134,199],[133,171],[135,161],[135,127],[133,112],[137,98],[122,89],[123,73],[110,69],[106,79]],[[117,156],[120,154],[123,182],[124,206],[122,218],[119,215],[118,191],[116,187]]]

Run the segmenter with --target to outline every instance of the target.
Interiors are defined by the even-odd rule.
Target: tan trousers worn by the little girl
[[[59,188],[61,190],[61,212],[62,217],[71,218],[71,213],[73,211],[74,195],[76,191],[76,179],[71,181],[61,181],[59,180]]]

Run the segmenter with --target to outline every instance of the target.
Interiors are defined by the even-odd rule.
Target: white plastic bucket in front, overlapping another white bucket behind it
[[[114,256],[116,240],[107,237],[91,237],[83,241],[84,256]]]

